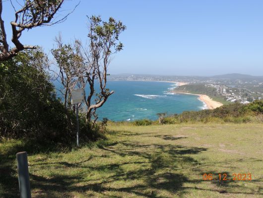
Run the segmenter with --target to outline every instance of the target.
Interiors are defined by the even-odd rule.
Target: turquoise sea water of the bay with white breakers
[[[108,81],[108,88],[115,93],[97,109],[100,119],[110,120],[157,119],[157,113],[181,113],[201,110],[205,106],[197,96],[172,94],[174,83],[151,81]],[[88,90],[86,90],[87,92]]]

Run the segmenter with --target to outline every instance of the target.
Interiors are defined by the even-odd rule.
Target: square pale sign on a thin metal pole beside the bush
[[[79,121],[78,121],[78,103],[84,102],[84,90],[72,90],[71,91],[71,103],[76,107],[76,121],[77,121],[77,146],[79,146]]]

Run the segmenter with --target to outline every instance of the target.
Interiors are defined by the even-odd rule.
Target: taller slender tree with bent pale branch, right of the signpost
[[[90,92],[85,96],[87,105],[86,119],[90,121],[91,116],[94,120],[96,109],[101,107],[111,96],[114,91],[106,87],[108,66],[111,62],[111,55],[123,49],[123,44],[118,43],[119,35],[126,29],[121,21],[116,21],[110,17],[108,22],[101,20],[100,16],[92,16],[89,18],[89,46],[84,49],[84,55],[88,63],[86,78],[89,84]],[[92,103],[94,95],[95,80],[98,80],[100,91],[96,94],[95,102]]]

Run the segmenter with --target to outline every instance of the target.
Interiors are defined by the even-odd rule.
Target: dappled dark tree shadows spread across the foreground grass
[[[134,133],[123,131],[120,132],[120,135],[116,136],[129,135],[134,135]],[[165,135],[160,137],[170,138],[170,136]],[[176,143],[177,139],[172,140],[175,140]],[[135,195],[147,198],[157,198],[166,197],[161,196],[160,192],[164,192],[172,196],[180,196],[185,194],[189,189],[211,191],[220,194],[240,193],[232,190],[238,187],[236,181],[219,181],[217,178],[212,181],[203,181],[201,179],[204,174],[204,171],[202,170],[203,168],[200,166],[202,163],[197,161],[194,158],[194,155],[197,155],[200,152],[206,152],[207,148],[174,144],[145,144],[128,141],[101,142],[98,143],[97,146],[105,154],[95,154],[87,159],[82,159],[75,163],[69,163],[66,161],[35,161],[35,163],[31,165],[34,168],[38,166],[43,167],[42,165],[44,165],[48,169],[49,167],[56,165],[55,167],[59,171],[53,171],[52,177],[44,177],[31,173],[30,179],[33,197],[73,197],[72,195],[76,193],[82,193],[85,195],[85,192],[89,192],[89,196],[93,195],[94,197],[107,197],[107,193],[115,192],[118,195],[114,195],[113,197],[129,197],[129,195]],[[15,149],[14,151],[16,152]],[[57,150],[57,152],[59,152],[59,150]],[[98,160],[99,162],[99,160],[101,160],[100,158],[106,159],[115,155],[118,159],[121,159],[120,162],[113,163],[109,161],[111,163],[106,165],[89,163],[89,161],[94,160],[94,158],[96,158],[95,160]],[[18,182],[15,177],[15,167],[11,166],[11,164],[13,164],[14,157],[8,157],[7,154],[5,157],[9,161],[4,161],[4,163],[0,166],[0,173],[5,174],[3,175],[3,179],[1,178],[0,184],[3,189],[8,190],[4,191],[4,194],[0,194],[0,197],[17,197]],[[125,161],[127,158],[135,158],[136,160],[127,162]],[[131,166],[132,168],[124,168],[127,166]],[[200,170],[196,169],[197,166]],[[208,167],[212,167],[211,164]],[[200,175],[200,178],[191,179],[189,175],[180,173],[180,170],[182,169],[189,169],[191,171],[195,169],[198,175]],[[91,173],[92,171],[96,171],[97,174],[103,173],[103,176],[100,176],[101,178],[95,177],[91,179],[87,173]],[[77,173],[71,174],[72,172]],[[218,176],[218,173],[214,170],[207,170],[205,173],[211,173],[214,176]],[[230,173],[226,174],[230,175]],[[138,182],[136,183],[136,181]],[[198,186],[198,184],[204,182],[211,182],[218,188],[210,189]],[[119,183],[121,183],[121,185],[118,186],[117,184]],[[125,183],[125,185],[123,183]],[[193,185],[192,187],[189,187],[191,185],[184,184]],[[241,193],[244,195],[262,195],[260,192],[248,193],[250,191],[246,189],[246,187],[242,188],[243,191],[241,191]]]

